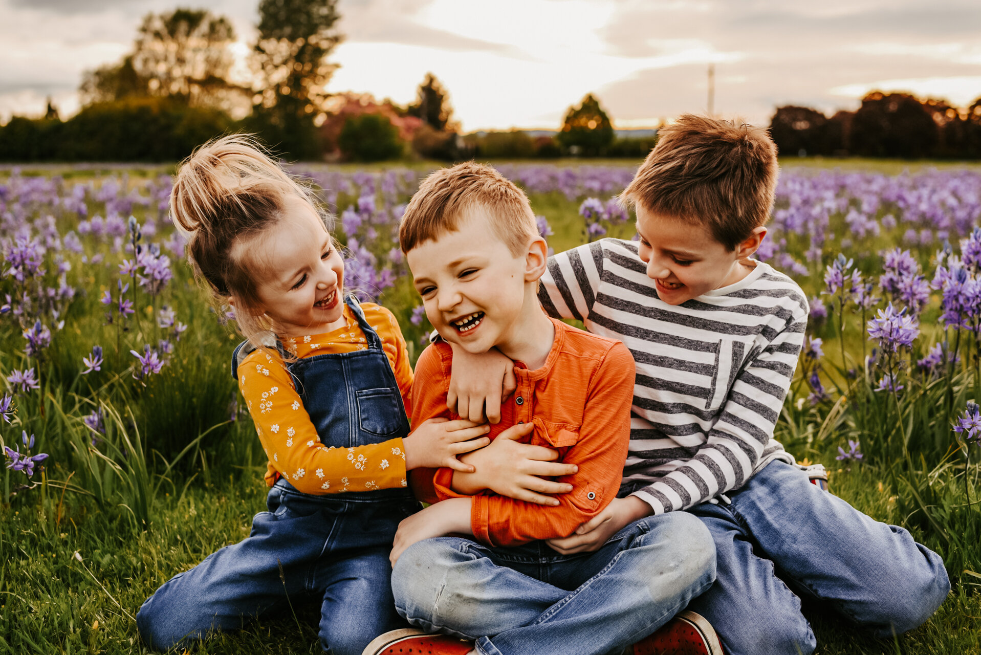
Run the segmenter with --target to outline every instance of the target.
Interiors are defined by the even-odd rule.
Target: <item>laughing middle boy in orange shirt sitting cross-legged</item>
[[[561,555],[543,541],[568,536],[616,496],[634,362],[619,341],[542,312],[546,246],[524,193],[490,167],[439,171],[413,197],[399,236],[439,334],[469,353],[499,349],[516,363],[517,390],[487,452],[472,460],[475,474],[439,469],[413,479],[434,504],[396,534],[398,612],[427,631],[476,640],[456,647],[481,655],[601,655],[668,622],[714,579],[711,538],[694,517],[633,523],[589,554]],[[451,416],[451,361],[446,342],[420,356],[413,423]],[[521,432],[531,433],[525,447],[556,449],[554,466],[567,474],[542,487],[563,492],[547,505],[498,495],[499,472],[481,464],[490,455],[506,462]],[[381,652],[453,652],[414,639]]]

